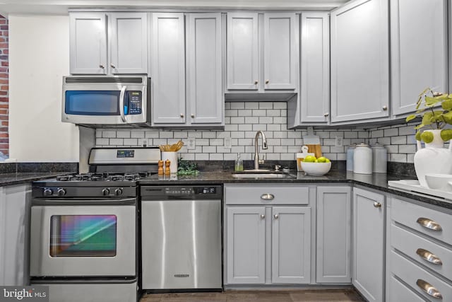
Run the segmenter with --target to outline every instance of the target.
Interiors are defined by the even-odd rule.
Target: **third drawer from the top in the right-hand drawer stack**
[[[436,301],[436,299],[421,289],[421,282],[425,282],[425,286],[431,287],[432,292],[437,291],[441,294],[443,298],[439,301],[452,301],[451,284],[434,277],[434,275],[426,272],[405,257],[398,255],[393,250],[391,250],[391,265],[393,273],[411,286],[412,289],[420,293],[421,296]]]

